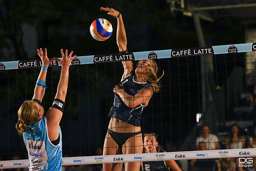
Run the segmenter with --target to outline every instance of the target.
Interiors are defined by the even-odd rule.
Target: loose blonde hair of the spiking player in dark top
[[[152,90],[153,92],[157,93],[159,92],[159,88],[160,88],[160,82],[159,80],[163,77],[163,74],[161,77],[157,77],[157,72],[158,72],[158,66],[155,60],[150,59],[150,71],[147,72],[148,76],[147,76],[147,83],[151,84]]]

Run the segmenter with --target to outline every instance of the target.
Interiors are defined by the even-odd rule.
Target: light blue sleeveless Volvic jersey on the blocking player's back
[[[59,136],[59,144],[53,145],[48,136],[46,117],[29,126],[28,131],[23,133],[29,155],[29,170],[61,170],[62,134],[60,127]]]

